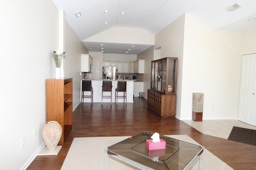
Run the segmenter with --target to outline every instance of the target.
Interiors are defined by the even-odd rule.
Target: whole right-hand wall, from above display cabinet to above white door
[[[202,92],[203,119],[237,119],[241,40],[252,51],[252,33],[212,30],[184,14],[156,35],[161,58],[178,57],[177,118],[192,119],[192,92]]]

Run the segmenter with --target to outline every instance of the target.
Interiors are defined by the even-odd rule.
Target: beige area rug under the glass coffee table
[[[166,136],[199,145],[187,135]],[[104,148],[127,138],[127,136],[74,138],[61,170],[104,170]],[[110,158],[109,169],[131,170],[136,168]],[[198,162],[195,163],[191,170],[198,170]],[[204,149],[204,170],[232,170],[232,168],[214,156],[214,154]]]

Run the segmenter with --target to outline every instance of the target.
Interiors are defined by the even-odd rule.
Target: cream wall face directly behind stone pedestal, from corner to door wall
[[[241,33],[212,30],[186,14],[180,119],[192,118],[192,92],[204,93],[203,119],[237,119]]]

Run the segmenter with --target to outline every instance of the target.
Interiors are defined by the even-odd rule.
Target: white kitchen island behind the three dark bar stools
[[[126,100],[127,103],[133,103],[133,85],[134,85],[134,80],[96,80],[96,79],[81,79],[81,91],[82,91],[82,81],[92,81],[92,88],[93,88],[93,102],[100,102],[102,99],[102,81],[112,81],[112,102],[115,102],[115,89],[117,88],[117,82],[118,81],[126,81]],[[80,91],[80,95],[81,95]],[[90,92],[84,92],[84,95],[90,95]],[[118,92],[119,95],[122,95],[123,92]],[[110,92],[104,92],[104,96],[109,95]],[[81,99],[81,96],[80,96]],[[84,98],[84,102],[90,102],[90,98]],[[103,98],[102,100],[103,103],[110,103],[110,98]],[[118,99],[118,103],[123,103],[124,99]]]

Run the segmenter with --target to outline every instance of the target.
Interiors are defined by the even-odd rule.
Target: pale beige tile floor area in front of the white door
[[[228,139],[228,136],[233,126],[256,130],[256,126],[252,126],[238,120],[203,120],[203,121],[182,120],[182,121],[194,127],[196,130],[200,131],[201,133],[224,138],[224,139]]]

